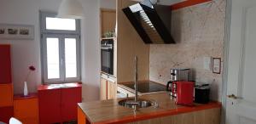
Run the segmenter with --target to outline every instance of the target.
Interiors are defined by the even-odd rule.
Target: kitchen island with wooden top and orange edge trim
[[[195,104],[183,106],[167,93],[148,94],[140,99],[154,99],[159,107],[140,108],[134,111],[118,104],[121,99],[111,99],[80,103],[78,105],[79,124],[112,124],[112,123],[175,123],[175,124],[219,124],[221,104]]]

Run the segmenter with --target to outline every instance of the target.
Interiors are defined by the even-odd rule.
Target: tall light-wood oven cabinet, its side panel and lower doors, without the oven
[[[108,78],[101,78],[101,99],[118,98],[119,82],[134,81],[134,58],[138,58],[138,80],[149,80],[149,45],[145,44],[137,31],[126,18],[122,8],[137,2],[131,0],[116,0],[116,37],[114,37],[114,83]],[[103,19],[103,18],[102,18]],[[102,20],[104,21],[104,20]],[[106,21],[107,22],[107,21]],[[104,28],[102,28],[104,29]],[[102,73],[105,75],[104,73]]]

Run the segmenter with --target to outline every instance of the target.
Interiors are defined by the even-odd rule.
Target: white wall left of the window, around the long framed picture
[[[49,2],[49,1],[48,1]],[[35,92],[41,80],[39,14],[40,1],[1,0],[0,23],[25,24],[35,26],[34,40],[0,40],[0,43],[12,44],[12,77],[15,93],[21,93],[29,65],[36,67],[28,82],[29,91]],[[47,1],[45,1],[47,3]],[[51,3],[54,6],[55,3]],[[46,4],[45,4],[46,5]],[[43,8],[43,7],[42,7]]]

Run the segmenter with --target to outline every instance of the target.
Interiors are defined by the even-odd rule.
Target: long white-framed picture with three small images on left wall
[[[0,39],[34,39],[34,25],[0,24]]]

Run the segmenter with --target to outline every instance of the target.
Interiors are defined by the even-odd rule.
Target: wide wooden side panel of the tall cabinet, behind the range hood
[[[145,44],[126,18],[122,8],[137,2],[116,0],[117,3],[117,82],[134,81],[134,57],[138,58],[138,80],[149,80],[149,45]]]

